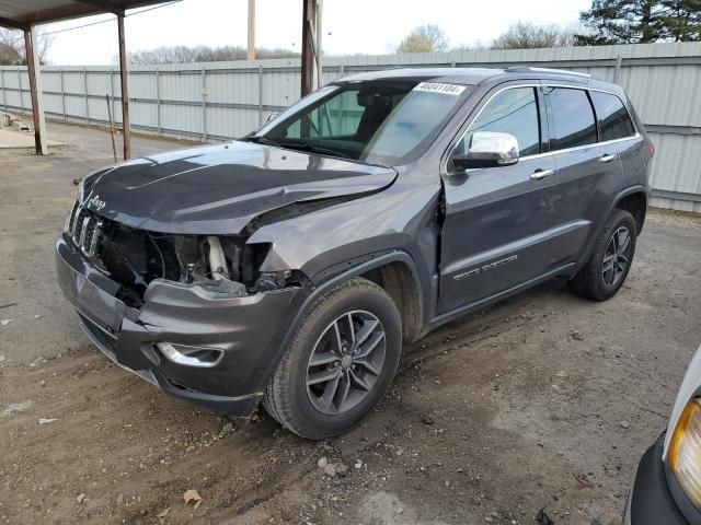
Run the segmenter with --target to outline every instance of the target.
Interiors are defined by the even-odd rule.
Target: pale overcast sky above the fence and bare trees
[[[393,52],[412,28],[439,25],[451,46],[489,43],[509,24],[574,24],[591,0],[324,0],[323,51],[327,55]],[[182,0],[127,16],[129,50],[159,46],[245,46],[248,0]],[[256,47],[299,50],[302,0],[256,0]],[[65,31],[103,21],[89,27]],[[53,34],[56,66],[111,65],[117,54],[113,15],[43,26]]]

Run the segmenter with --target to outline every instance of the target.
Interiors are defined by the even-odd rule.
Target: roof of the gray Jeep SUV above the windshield
[[[369,71],[340,79],[338,82],[363,82],[381,79],[407,79],[416,81],[433,80],[452,84],[476,85],[486,79],[502,77],[504,80],[542,79],[579,82],[585,84],[605,84],[595,81],[586,73],[548,68],[403,68],[383,71]]]

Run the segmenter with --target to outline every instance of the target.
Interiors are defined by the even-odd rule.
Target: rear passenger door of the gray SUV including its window
[[[587,240],[622,184],[616,143],[600,142],[590,92],[545,85],[550,150],[558,168],[552,264],[578,261]]]

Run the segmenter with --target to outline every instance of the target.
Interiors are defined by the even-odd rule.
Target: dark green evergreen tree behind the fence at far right
[[[594,0],[579,20],[579,45],[701,39],[701,0]]]

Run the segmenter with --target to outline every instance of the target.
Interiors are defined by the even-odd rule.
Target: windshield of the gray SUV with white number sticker
[[[376,164],[405,164],[430,144],[469,86],[391,79],[327,86],[248,140]]]

